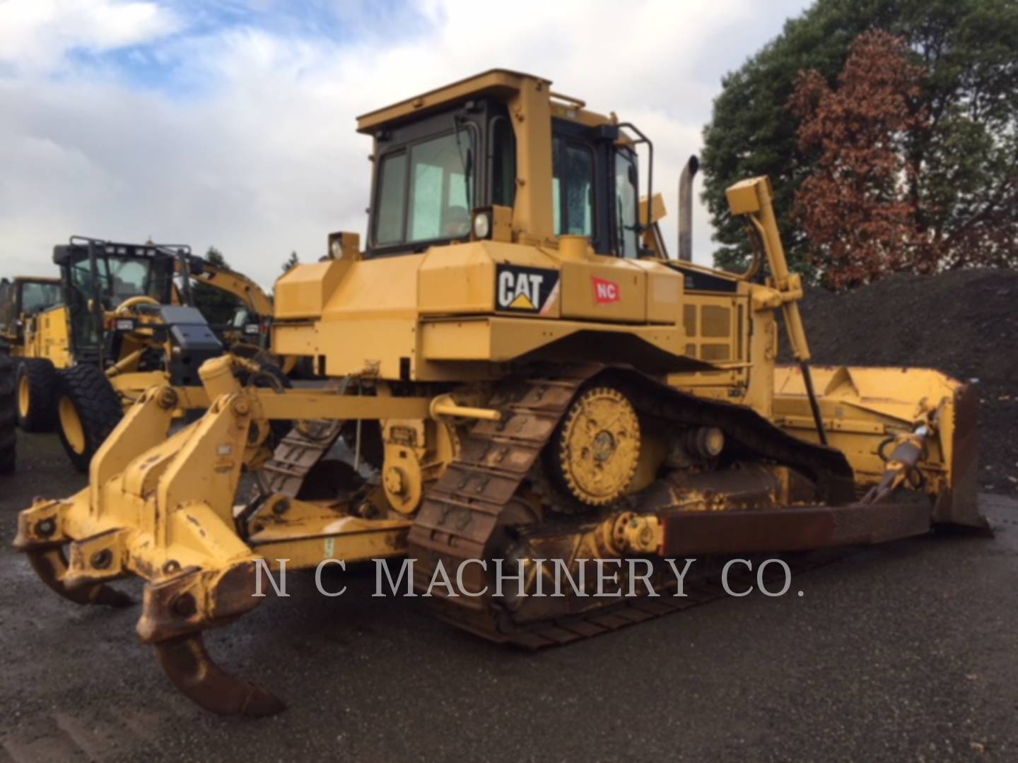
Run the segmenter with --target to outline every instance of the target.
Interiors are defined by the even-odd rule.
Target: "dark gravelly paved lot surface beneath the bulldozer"
[[[222,719],[176,694],[134,610],[77,607],[10,549],[35,494],[83,485],[55,437],[20,435],[0,481],[0,761],[1018,760],[1018,502],[994,540],[914,539],[528,653],[307,576],[208,639],[289,710]]]

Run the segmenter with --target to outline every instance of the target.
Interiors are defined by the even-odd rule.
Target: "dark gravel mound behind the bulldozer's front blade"
[[[979,390],[983,489],[1018,491],[1018,272],[898,274],[802,303],[813,362],[936,368]]]

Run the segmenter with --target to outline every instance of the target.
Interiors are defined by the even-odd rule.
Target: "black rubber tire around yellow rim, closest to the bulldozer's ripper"
[[[99,446],[123,418],[123,406],[120,404],[120,396],[106,374],[97,366],[87,363],[60,372],[55,410],[59,412],[60,406],[65,401],[73,406],[81,423],[83,449],[79,452],[71,445],[59,420],[57,431],[60,433],[60,443],[67,453],[67,458],[75,469],[84,473],[89,471],[89,464]]]

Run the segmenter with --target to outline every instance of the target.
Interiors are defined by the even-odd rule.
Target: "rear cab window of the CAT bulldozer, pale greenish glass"
[[[378,247],[464,238],[474,203],[469,125],[382,157],[375,216]]]

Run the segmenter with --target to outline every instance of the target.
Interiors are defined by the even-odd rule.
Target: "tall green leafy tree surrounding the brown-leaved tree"
[[[906,146],[919,172],[907,193],[938,268],[1018,260],[1018,3],[1015,0],[817,0],[782,34],[722,80],[704,128],[704,191],[720,267],[745,266],[749,247],[731,219],[725,188],[770,175],[792,267],[815,278],[792,210],[815,154],[798,146],[787,108],[799,71],[837,84],[858,35],[885,30],[905,39],[924,67],[929,128]]]

